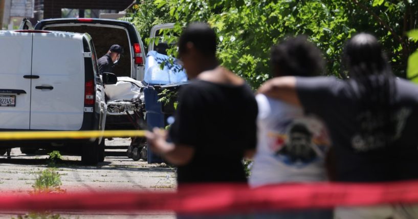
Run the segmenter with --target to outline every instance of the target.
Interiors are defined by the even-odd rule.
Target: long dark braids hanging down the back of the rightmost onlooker
[[[367,149],[386,147],[394,138],[395,78],[377,38],[360,33],[345,45],[343,61],[359,101],[359,136]]]

